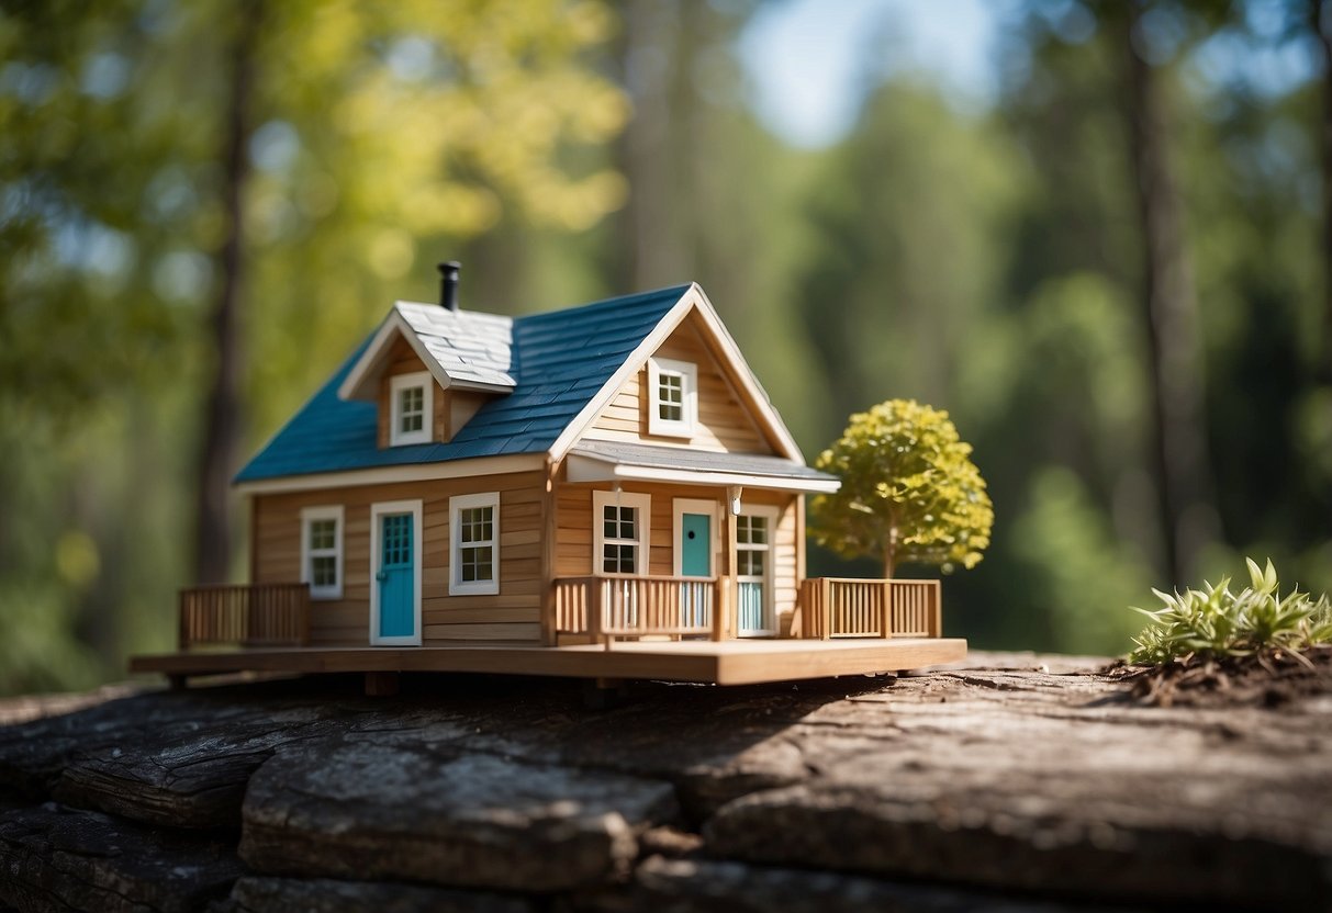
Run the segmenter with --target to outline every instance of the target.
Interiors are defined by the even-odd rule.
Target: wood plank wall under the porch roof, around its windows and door
[[[555,487],[555,523],[558,527],[558,547],[555,550],[555,576],[577,578],[595,574],[593,543],[591,492],[597,488],[609,491],[603,484],[559,483]],[[706,486],[638,484],[625,483],[622,491],[646,492],[651,496],[651,527],[649,535],[647,574],[673,576],[675,572],[675,498],[715,500],[723,507],[726,490]],[[773,586],[774,607],[778,620],[789,624],[795,610],[795,596],[799,588],[797,574],[797,539],[799,534],[799,511],[797,499],[783,491],[746,488],[743,504],[769,504],[777,507],[778,522],[773,536]],[[718,523],[718,538],[721,524]],[[714,543],[713,568],[721,568],[721,542]],[[785,630],[785,628],[783,628]]]

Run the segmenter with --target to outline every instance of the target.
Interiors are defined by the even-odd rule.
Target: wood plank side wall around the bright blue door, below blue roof
[[[500,492],[500,595],[449,596],[449,498]],[[370,504],[422,500],[422,641],[533,641],[541,636],[541,498],[545,475],[509,472],[385,486],[256,495],[254,583],[301,578],[301,508],[342,504],[342,599],[310,603],[310,643],[366,644],[370,630]]]

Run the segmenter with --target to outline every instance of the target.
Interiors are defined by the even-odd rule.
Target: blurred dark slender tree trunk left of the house
[[[204,413],[204,443],[198,462],[198,514],[194,536],[194,579],[218,583],[230,567],[229,480],[238,431],[240,309],[244,273],[244,192],[249,176],[246,145],[250,136],[249,106],[254,85],[254,45],[260,32],[262,0],[244,0],[234,7],[236,35],[230,49],[230,87],[222,134],[222,202],[226,238],[217,254],[217,301],[212,314],[212,341],[217,367]]]

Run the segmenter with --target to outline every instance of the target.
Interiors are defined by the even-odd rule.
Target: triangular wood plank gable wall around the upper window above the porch
[[[583,433],[587,441],[630,441],[663,447],[693,447],[714,453],[771,454],[773,447],[741,405],[721,362],[709,350],[693,314],[661,345],[657,355],[698,366],[698,423],[691,439],[647,434],[647,369],[615,393]]]

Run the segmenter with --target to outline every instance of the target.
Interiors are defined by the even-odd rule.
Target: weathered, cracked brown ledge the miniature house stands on
[[[0,705],[0,910],[1332,909],[1332,695],[1095,661],[706,688],[348,677]],[[71,711],[71,707],[76,708]]]

